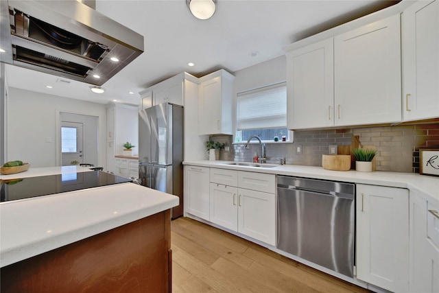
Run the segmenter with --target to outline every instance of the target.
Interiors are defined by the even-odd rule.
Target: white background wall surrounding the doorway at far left
[[[99,117],[99,167],[106,169],[106,105],[8,88],[8,156],[31,167],[57,165],[60,112]]]

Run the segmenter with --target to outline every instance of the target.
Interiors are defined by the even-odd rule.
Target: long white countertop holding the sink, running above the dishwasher
[[[194,165],[201,167],[217,167],[222,169],[235,169],[240,171],[260,172],[266,174],[300,176],[307,178],[318,178],[325,180],[337,180],[352,183],[362,183],[369,185],[382,185],[389,187],[401,187],[415,191],[427,200],[439,204],[439,177],[419,175],[414,173],[403,172],[358,172],[350,171],[331,171],[322,167],[310,167],[300,165],[275,165],[275,164],[258,164],[274,166],[265,167],[247,167],[228,165],[228,163],[239,163],[233,161],[185,161],[184,165]]]

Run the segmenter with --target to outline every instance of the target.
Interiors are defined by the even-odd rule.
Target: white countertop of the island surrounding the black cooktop
[[[59,170],[60,167],[58,173],[52,174],[60,174]],[[64,171],[70,172],[72,168]],[[49,175],[50,172],[47,168],[36,168],[32,173]],[[0,266],[8,266],[177,205],[178,197],[134,183],[2,202]]]

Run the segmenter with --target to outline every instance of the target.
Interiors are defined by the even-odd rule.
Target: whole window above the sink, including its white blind
[[[247,141],[252,135],[264,141],[282,136],[287,140],[287,87],[285,82],[239,93],[237,96],[237,139]]]

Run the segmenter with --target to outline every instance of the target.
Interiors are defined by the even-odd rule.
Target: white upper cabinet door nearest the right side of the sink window
[[[333,38],[287,53],[287,128],[334,125]]]

